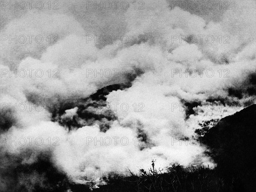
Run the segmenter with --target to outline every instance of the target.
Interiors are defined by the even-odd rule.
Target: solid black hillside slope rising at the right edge
[[[200,137],[227,181],[241,191],[256,189],[256,104],[221,119]]]

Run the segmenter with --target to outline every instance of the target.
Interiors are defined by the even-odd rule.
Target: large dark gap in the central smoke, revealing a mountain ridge
[[[130,76],[130,80],[134,80],[135,76]],[[106,96],[111,91],[124,90],[125,88],[131,87],[131,83],[128,84],[114,84],[97,90],[96,93],[92,94],[85,99],[68,100],[61,102],[55,113],[52,113],[52,121],[58,121],[62,126],[66,126],[69,130],[91,126],[98,124],[102,132],[107,131],[113,120],[117,117],[111,109],[108,109],[108,103],[106,102]],[[76,115],[72,119],[62,118],[65,110],[77,107]]]

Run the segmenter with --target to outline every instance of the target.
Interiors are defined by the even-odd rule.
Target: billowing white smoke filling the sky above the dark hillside
[[[128,8],[112,9],[88,2],[21,10],[1,1],[1,169],[35,164],[43,154],[70,181],[86,184],[100,182],[88,178],[88,171],[136,172],[150,167],[152,159],[161,168],[174,163],[214,167],[194,132],[202,120],[221,119],[256,102],[255,3],[230,1],[227,10],[214,3],[213,9],[195,11],[171,0],[142,1],[136,8],[126,1]],[[9,42],[15,35],[26,42]],[[37,35],[44,41],[35,42]],[[110,41],[95,41],[109,36]],[[10,75],[15,69],[27,75]],[[139,73],[114,75],[123,69]],[[38,78],[36,70],[44,75]],[[58,78],[49,78],[49,70]],[[95,74],[101,70],[111,75]],[[110,85],[123,87],[104,93],[105,101],[91,99]],[[181,104],[192,102],[198,103],[192,107],[197,112],[190,115]],[[27,103],[24,111],[10,107]],[[46,105],[43,110],[35,109],[38,103]],[[105,104],[111,109],[102,110]],[[9,138],[22,137],[41,137],[44,143],[9,144]],[[3,191],[13,183],[30,191],[43,185],[40,172],[28,181],[2,175]]]

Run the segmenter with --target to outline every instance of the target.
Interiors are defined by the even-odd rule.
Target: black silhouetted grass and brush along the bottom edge
[[[148,170],[140,169],[130,177],[108,177],[108,185],[93,192],[222,192],[231,191],[229,185],[214,169],[172,165],[168,172],[155,169],[154,161]]]

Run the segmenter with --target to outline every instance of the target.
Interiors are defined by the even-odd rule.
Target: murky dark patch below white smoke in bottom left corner
[[[32,163],[29,160],[33,159]],[[20,154],[1,152],[1,191],[5,192],[55,192],[65,191],[67,176],[59,171],[51,161],[50,152],[32,149]]]

